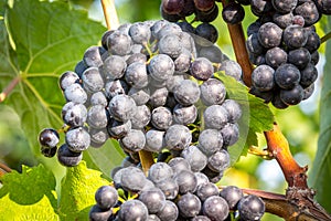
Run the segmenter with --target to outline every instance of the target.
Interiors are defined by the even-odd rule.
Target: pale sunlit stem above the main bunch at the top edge
[[[104,15],[108,30],[115,30],[119,27],[119,21],[116,12],[115,0],[102,0]]]

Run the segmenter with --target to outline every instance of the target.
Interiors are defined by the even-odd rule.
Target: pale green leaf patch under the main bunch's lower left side
[[[89,147],[84,152],[84,160],[88,168],[100,170],[108,179],[110,179],[111,170],[121,165],[125,157],[126,154],[124,154],[118,141],[115,139],[108,139],[100,148]]]

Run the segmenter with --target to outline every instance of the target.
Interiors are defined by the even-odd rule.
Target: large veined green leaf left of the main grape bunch
[[[7,27],[0,21],[0,90],[20,80],[7,104],[19,114],[29,144],[40,155],[39,131],[63,125],[60,113],[65,99],[58,75],[73,70],[106,29],[88,20],[86,11],[60,1],[17,0],[6,10],[6,19]]]

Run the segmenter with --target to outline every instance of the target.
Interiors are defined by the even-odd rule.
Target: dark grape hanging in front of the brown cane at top
[[[245,10],[239,3],[228,3],[222,10],[222,18],[226,23],[237,24],[244,20]]]

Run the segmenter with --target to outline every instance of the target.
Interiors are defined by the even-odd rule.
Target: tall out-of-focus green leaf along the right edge
[[[331,18],[328,18],[325,31],[331,30]],[[309,173],[309,183],[317,190],[317,200],[327,211],[331,211],[331,41],[327,42],[327,62],[324,66],[323,85],[320,97],[320,136],[318,150]]]

